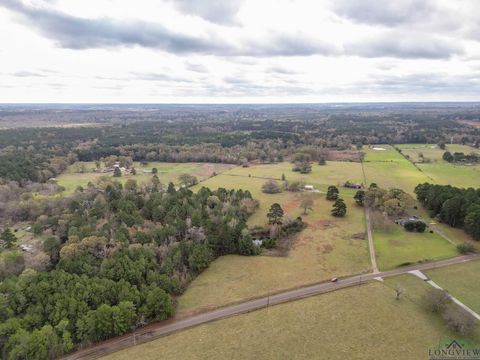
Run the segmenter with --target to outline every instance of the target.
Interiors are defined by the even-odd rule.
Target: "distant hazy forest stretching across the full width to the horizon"
[[[0,109],[6,128],[0,178],[45,182],[76,160],[110,155],[239,164],[282,161],[301,147],[451,141],[478,147],[479,106],[447,105],[11,106]],[[19,123],[31,127],[16,128]]]

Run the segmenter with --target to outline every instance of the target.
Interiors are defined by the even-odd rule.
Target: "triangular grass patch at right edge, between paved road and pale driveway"
[[[480,261],[426,271],[439,286],[480,313]]]

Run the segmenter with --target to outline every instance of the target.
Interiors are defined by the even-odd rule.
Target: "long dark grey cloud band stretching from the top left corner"
[[[18,13],[42,35],[69,49],[142,46],[176,54],[220,56],[305,56],[335,52],[329,44],[307,40],[300,35],[272,34],[263,42],[247,39],[243,44],[233,46],[216,35],[192,37],[156,23],[85,19],[55,10],[32,8],[16,0],[3,0],[0,6]]]

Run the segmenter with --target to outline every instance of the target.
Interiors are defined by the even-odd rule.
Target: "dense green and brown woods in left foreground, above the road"
[[[246,220],[257,203],[248,191],[170,184],[160,192],[131,181],[87,189],[66,206],[35,224],[54,235],[37,270],[22,272],[15,252],[1,269],[2,358],[55,358],[166,319],[214,258],[256,254]]]

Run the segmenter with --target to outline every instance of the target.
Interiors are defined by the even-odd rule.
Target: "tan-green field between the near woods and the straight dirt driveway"
[[[356,165],[360,167],[360,164]],[[316,167],[314,166],[314,171],[317,170]],[[253,176],[264,174],[266,169],[263,165],[248,169],[252,177],[229,176],[228,174],[233,171],[238,172],[236,168],[210,178],[202,185],[212,189],[223,186],[250,190],[260,201],[260,208],[249,221],[249,225],[266,224],[266,213],[273,202],[280,203],[290,217],[301,215],[300,194],[288,192],[264,194],[261,192],[261,186],[265,180]],[[274,177],[281,177],[282,172],[290,180],[300,177],[284,164],[280,164],[278,174],[275,174],[271,165],[268,165],[268,170],[271,176],[276,175]],[[333,165],[330,170],[335,171]],[[322,183],[323,180],[318,179],[317,182]],[[330,215],[332,202],[325,200],[324,194],[311,195],[315,201],[314,210],[303,217],[308,227],[294,239],[293,247],[287,256],[229,255],[218,258],[179,298],[178,312],[184,314],[206,310],[325,281],[332,276],[368,271],[370,265],[367,241],[362,238],[365,233],[363,209],[355,205],[350,196],[345,196],[347,216],[341,219],[334,218]]]

